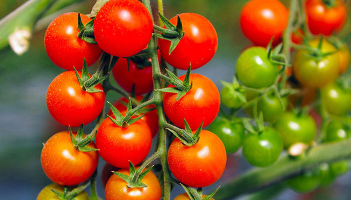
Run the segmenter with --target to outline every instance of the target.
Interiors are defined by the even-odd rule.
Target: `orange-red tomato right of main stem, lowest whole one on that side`
[[[174,177],[191,187],[205,187],[216,182],[227,162],[221,139],[208,130],[201,130],[197,143],[186,146],[177,137],[168,149],[168,165]]]

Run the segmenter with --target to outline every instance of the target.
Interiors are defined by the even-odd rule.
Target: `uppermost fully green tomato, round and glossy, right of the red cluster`
[[[236,73],[245,86],[263,88],[275,82],[279,68],[268,59],[265,48],[254,46],[239,55]]]

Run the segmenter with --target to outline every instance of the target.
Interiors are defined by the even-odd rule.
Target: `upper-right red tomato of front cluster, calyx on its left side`
[[[218,37],[215,27],[204,16],[196,13],[179,14],[183,24],[184,37],[169,55],[170,41],[158,39],[159,50],[166,62],[175,68],[187,70],[199,68],[209,62],[215,55]],[[177,25],[177,16],[169,21]]]

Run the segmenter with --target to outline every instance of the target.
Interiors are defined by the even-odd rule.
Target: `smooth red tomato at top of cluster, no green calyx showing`
[[[98,11],[94,35],[109,54],[128,57],[141,51],[150,41],[152,18],[137,0],[110,0]]]

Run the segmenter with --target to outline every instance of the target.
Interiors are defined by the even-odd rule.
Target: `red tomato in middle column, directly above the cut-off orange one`
[[[150,128],[143,120],[137,120],[127,127],[120,127],[105,118],[96,134],[96,146],[100,156],[108,163],[119,168],[139,164],[151,148]]]

